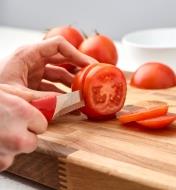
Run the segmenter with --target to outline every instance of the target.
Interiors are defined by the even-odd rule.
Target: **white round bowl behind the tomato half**
[[[176,69],[176,28],[130,33],[123,37],[122,46],[131,70],[148,61],[160,61]]]

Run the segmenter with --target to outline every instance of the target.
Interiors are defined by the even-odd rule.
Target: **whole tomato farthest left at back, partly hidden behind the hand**
[[[48,39],[58,35],[63,36],[76,48],[78,48],[84,40],[84,37],[81,34],[81,32],[73,26],[59,26],[52,28],[46,33],[44,39]]]

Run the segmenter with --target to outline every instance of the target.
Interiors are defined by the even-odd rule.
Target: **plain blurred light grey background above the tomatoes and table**
[[[0,0],[0,25],[45,30],[73,24],[119,40],[134,30],[176,26],[175,0]]]

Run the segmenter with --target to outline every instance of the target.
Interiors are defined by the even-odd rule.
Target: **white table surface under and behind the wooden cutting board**
[[[26,29],[17,29],[0,26],[0,59],[12,53],[17,47],[25,44],[35,43],[42,39],[42,31],[33,31]],[[130,65],[125,64],[124,56],[120,43],[116,43],[119,53],[118,66],[123,70],[132,70]],[[133,68],[134,69],[134,68]],[[2,173],[0,174],[0,189],[1,190],[45,190],[41,185],[34,182],[19,178],[17,176]]]

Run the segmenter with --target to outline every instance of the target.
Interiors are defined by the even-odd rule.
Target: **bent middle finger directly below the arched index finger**
[[[71,86],[74,75],[62,67],[46,65],[43,78],[52,82],[62,82],[67,86]]]

